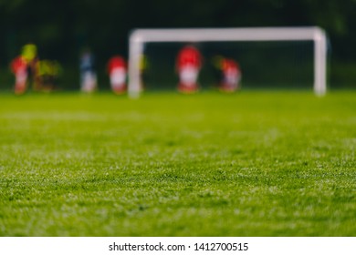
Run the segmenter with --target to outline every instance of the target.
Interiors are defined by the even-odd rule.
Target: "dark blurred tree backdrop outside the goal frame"
[[[63,68],[61,87],[79,87],[79,54],[90,47],[99,80],[110,56],[128,55],[134,28],[320,26],[330,38],[331,88],[356,87],[356,0],[0,0],[0,89],[27,43]],[[102,82],[100,88],[108,87]]]

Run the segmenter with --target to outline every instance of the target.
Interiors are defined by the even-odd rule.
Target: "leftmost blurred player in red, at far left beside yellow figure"
[[[24,94],[27,88],[27,63],[25,58],[16,56],[10,63],[10,69],[15,75],[15,94]]]

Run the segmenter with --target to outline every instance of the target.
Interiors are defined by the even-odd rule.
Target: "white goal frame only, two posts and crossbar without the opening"
[[[327,90],[327,37],[317,27],[136,29],[129,38],[129,97],[141,93],[141,57],[145,43],[161,42],[313,41],[314,92]]]

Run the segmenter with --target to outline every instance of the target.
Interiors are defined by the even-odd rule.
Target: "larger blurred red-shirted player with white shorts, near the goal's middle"
[[[178,91],[194,93],[198,91],[197,79],[202,66],[202,56],[194,46],[184,46],[176,58],[176,71],[179,74]]]

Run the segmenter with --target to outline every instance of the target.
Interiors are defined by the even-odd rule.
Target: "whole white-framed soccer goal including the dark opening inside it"
[[[327,37],[319,27],[136,29],[129,40],[129,97],[157,85],[172,88],[174,58],[184,45],[201,50],[205,87],[214,83],[215,56],[228,56],[241,67],[243,87],[327,91]]]

